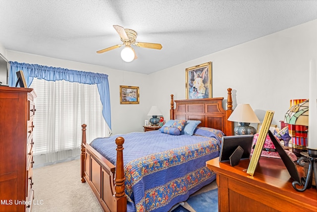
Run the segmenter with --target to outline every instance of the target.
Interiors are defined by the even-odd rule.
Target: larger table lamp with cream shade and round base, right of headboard
[[[249,125],[250,123],[260,123],[250,104],[238,104],[228,121],[239,122],[240,125],[234,128],[236,135],[254,135],[257,130]]]

